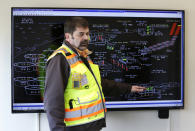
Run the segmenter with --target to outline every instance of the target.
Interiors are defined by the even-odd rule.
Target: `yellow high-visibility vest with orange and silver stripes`
[[[92,69],[90,72],[80,57],[65,44],[54,51],[48,60],[57,53],[62,53],[70,66],[68,84],[64,92],[66,126],[82,125],[104,118],[105,99],[98,65],[93,64],[87,57]]]

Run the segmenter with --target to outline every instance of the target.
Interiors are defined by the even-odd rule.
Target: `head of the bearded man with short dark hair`
[[[85,50],[89,44],[88,22],[82,17],[71,17],[64,24],[65,39],[73,47]]]

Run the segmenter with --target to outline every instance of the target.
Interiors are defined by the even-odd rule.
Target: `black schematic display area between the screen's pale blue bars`
[[[63,42],[66,18],[14,16],[14,103],[42,102],[45,62]],[[118,97],[105,94],[107,101],[181,99],[181,19],[85,18],[89,22],[91,58],[100,66],[101,76],[147,87],[142,93]]]

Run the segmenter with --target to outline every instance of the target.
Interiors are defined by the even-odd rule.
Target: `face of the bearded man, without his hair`
[[[89,45],[89,28],[76,27],[76,30],[73,32],[73,34],[68,33],[66,40],[79,50],[83,51],[87,49]]]

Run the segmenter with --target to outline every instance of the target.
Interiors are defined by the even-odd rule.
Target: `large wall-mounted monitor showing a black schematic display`
[[[89,49],[102,78],[145,86],[107,96],[113,110],[184,107],[184,11],[12,8],[12,112],[43,112],[45,64],[68,17],[89,22]]]

